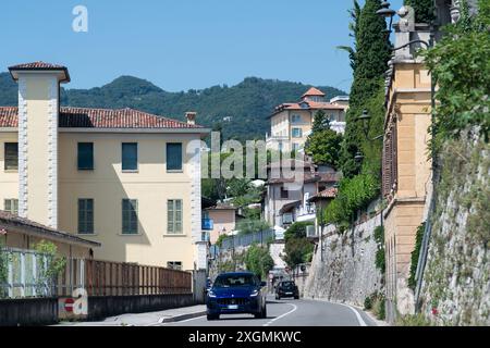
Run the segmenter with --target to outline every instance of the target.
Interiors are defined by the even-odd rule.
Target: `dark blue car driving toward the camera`
[[[219,275],[207,296],[208,320],[221,314],[254,314],[267,318],[267,284],[253,273],[224,273]]]

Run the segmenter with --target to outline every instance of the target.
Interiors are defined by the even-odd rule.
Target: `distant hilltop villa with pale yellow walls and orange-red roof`
[[[315,114],[323,110],[330,119],[330,127],[336,133],[345,132],[345,112],[348,97],[335,97],[324,101],[326,95],[310,88],[299,102],[283,103],[270,116],[271,129],[267,135],[267,148],[278,151],[301,150],[311,133]]]

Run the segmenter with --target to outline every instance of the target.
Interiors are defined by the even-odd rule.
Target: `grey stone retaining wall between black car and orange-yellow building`
[[[327,226],[323,260],[321,248],[317,248],[305,283],[305,297],[364,306],[366,297],[382,291],[382,274],[375,264],[378,247],[373,237],[380,224],[378,215],[344,235],[338,234],[334,226]]]

